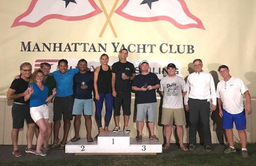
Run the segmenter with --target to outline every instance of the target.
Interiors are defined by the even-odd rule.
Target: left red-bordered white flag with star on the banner
[[[49,19],[84,20],[101,12],[93,0],[32,0],[28,10],[14,20],[12,27],[37,27]]]

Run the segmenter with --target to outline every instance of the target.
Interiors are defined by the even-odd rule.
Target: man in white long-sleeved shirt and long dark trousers
[[[189,150],[196,147],[196,131],[198,121],[202,123],[204,145],[207,152],[212,151],[210,131],[210,112],[216,109],[217,98],[215,85],[210,73],[202,70],[201,59],[193,61],[194,73],[188,75],[188,93],[184,97],[186,111],[189,112]]]

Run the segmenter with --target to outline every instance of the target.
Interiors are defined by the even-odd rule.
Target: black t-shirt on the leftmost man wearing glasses
[[[23,93],[24,91],[26,91],[28,89],[28,82],[23,80],[21,77],[19,79],[14,79],[12,81],[12,84],[10,86],[11,89],[15,90],[14,94],[19,94],[19,93]],[[29,100],[25,101],[24,100],[24,96],[18,98],[18,99],[14,99],[14,102],[17,103],[24,103],[24,104],[29,104]]]

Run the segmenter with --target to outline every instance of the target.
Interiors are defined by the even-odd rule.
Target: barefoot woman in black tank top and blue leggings
[[[94,71],[94,89],[96,99],[96,113],[95,119],[99,128],[99,132],[108,132],[108,124],[112,117],[113,109],[113,96],[112,96],[112,72],[111,66],[108,66],[108,55],[102,54],[100,56],[101,66],[95,68]],[[106,114],[105,114],[105,127],[101,124],[101,110],[105,99],[106,103]]]

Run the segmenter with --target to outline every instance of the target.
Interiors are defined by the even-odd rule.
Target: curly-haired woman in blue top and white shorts
[[[24,100],[30,99],[30,115],[39,127],[39,135],[36,140],[36,155],[45,156],[48,146],[47,124],[49,120],[49,108],[47,102],[56,95],[56,88],[52,90],[52,95],[48,96],[48,88],[43,83],[45,75],[41,70],[36,70],[30,77],[28,94]],[[42,145],[43,148],[42,148]],[[42,148],[42,151],[41,151]]]

